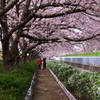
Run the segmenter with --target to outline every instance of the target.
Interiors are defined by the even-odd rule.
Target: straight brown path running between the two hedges
[[[33,100],[69,100],[48,69],[39,70]]]

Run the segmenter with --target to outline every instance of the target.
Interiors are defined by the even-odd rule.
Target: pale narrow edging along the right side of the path
[[[57,78],[57,76],[49,69],[50,73],[53,75],[53,77],[56,79],[64,93],[68,96],[70,100],[77,100],[67,89],[66,87],[60,82],[60,80]]]

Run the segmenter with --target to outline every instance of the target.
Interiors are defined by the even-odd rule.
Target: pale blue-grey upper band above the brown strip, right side
[[[78,62],[83,64],[100,65],[100,57],[53,57],[53,59]]]

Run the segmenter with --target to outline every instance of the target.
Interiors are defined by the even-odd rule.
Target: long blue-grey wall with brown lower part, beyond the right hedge
[[[100,57],[53,57],[53,59],[85,70],[100,72]]]

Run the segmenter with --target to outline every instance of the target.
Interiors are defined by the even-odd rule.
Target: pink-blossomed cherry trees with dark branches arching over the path
[[[94,42],[99,48],[99,26],[100,0],[0,0],[4,67]]]

